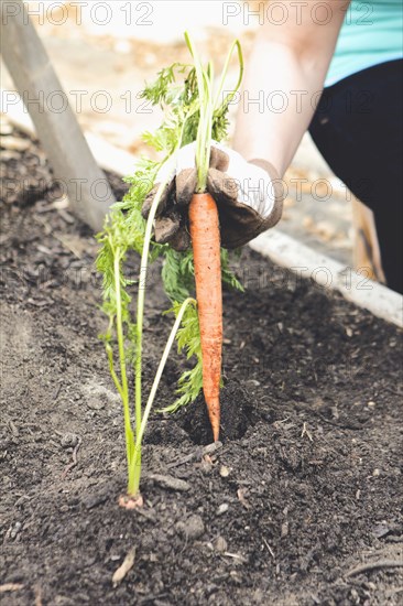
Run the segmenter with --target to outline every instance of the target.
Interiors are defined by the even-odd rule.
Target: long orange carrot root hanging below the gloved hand
[[[189,225],[200,326],[203,392],[214,440],[217,441],[220,428],[222,293],[218,210],[210,194],[193,195]]]

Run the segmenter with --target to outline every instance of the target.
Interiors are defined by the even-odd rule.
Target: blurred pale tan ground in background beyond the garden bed
[[[135,156],[145,151],[141,133],[161,119],[139,95],[162,67],[188,61],[184,31],[218,72],[235,37],[248,57],[259,26],[259,14],[252,11],[259,13],[263,6],[237,0],[25,3],[83,130]],[[13,89],[3,65],[1,84]],[[286,174],[288,183],[292,178],[303,180],[302,195],[291,184],[279,229],[351,264],[350,196],[308,136]]]

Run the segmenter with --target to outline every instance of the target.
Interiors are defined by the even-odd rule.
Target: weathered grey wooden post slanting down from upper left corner
[[[113,194],[21,0],[1,1],[1,30],[4,63],[32,117],[55,177],[63,182],[73,212],[98,230],[115,202]]]

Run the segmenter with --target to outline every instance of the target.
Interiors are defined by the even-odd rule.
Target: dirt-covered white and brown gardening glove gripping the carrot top
[[[195,143],[179,150],[175,166],[163,166],[157,174],[142,208],[145,218],[164,178],[168,184],[156,212],[155,240],[186,250],[190,242],[187,206],[197,182]],[[275,169],[264,160],[247,162],[217,142],[211,145],[207,191],[217,203],[221,245],[226,248],[243,246],[281,218],[282,187]]]

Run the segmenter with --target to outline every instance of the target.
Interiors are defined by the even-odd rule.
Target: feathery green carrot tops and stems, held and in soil
[[[161,161],[142,159],[134,175],[126,181],[131,187],[122,202],[113,205],[107,217],[104,231],[98,235],[100,250],[97,269],[102,274],[102,310],[109,323],[101,336],[109,361],[109,370],[123,405],[124,435],[128,463],[128,496],[138,497],[141,475],[141,446],[148,419],[153,405],[161,376],[164,370],[175,336],[179,351],[187,359],[195,358],[195,366],[186,370],[178,381],[177,399],[163,409],[174,411],[196,399],[202,387],[200,336],[194,292],[193,251],[177,252],[168,245],[159,245],[152,239],[153,223],[159,202],[166,186],[161,183],[145,221],[141,207],[152,190],[159,170],[166,162],[175,163],[179,148],[196,141],[198,183],[205,183],[209,163],[211,139],[222,140],[227,136],[228,107],[238,90],[243,72],[242,52],[236,41],[228,54],[215,97],[213,97],[213,64],[204,69],[199,56],[188,36],[186,44],[194,65],[174,63],[163,68],[156,80],[146,86],[142,96],[164,110],[164,119],[155,132],[145,132],[144,141],[162,153]],[[233,90],[220,101],[229,63],[233,51],[239,58],[239,78]],[[204,82],[204,86],[198,86]],[[129,251],[141,256],[139,280],[134,284],[127,278],[126,260]],[[145,407],[142,405],[142,350],[143,318],[149,263],[163,258],[162,280],[171,301],[175,323],[163,351]],[[228,251],[221,249],[222,281],[242,290],[228,262]],[[131,291],[137,286],[135,322],[131,311]],[[134,291],[135,292],[135,291]],[[131,372],[129,372],[129,369]],[[132,372],[133,370],[133,372]],[[129,375],[134,376],[134,410],[130,402]],[[134,412],[134,423],[132,421]],[[135,499],[126,499],[137,505]],[[130,505],[129,505],[130,506]]]

